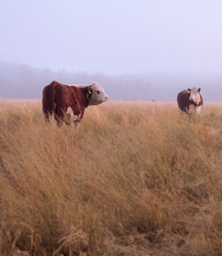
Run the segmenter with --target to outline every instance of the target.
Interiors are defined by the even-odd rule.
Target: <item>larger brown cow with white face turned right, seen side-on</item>
[[[43,113],[46,121],[72,123],[78,126],[84,110],[89,105],[99,105],[109,101],[104,88],[98,83],[92,85],[62,85],[52,81],[43,89]]]

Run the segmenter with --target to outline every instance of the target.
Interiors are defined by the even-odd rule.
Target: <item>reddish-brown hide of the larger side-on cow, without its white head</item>
[[[71,107],[74,115],[80,115],[79,122],[89,105],[87,94],[91,96],[90,89],[90,86],[81,88],[52,81],[43,89],[43,113],[46,120],[48,121],[49,116],[54,113],[58,122],[68,122],[66,112],[68,107]]]

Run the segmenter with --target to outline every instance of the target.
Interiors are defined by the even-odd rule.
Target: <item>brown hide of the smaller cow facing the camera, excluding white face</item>
[[[199,93],[200,94],[200,93]],[[178,94],[177,101],[178,101],[178,107],[183,112],[189,112],[190,105],[195,105],[195,107],[199,107],[200,105],[203,106],[203,99],[200,95],[200,102],[199,104],[195,104],[194,101],[190,101],[189,97],[191,96],[191,93],[188,93],[187,90],[183,90]]]

